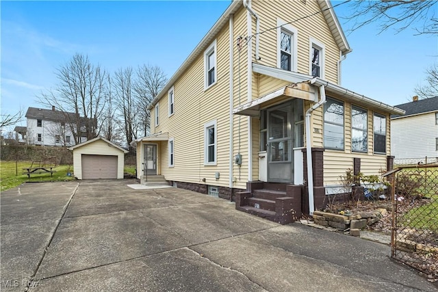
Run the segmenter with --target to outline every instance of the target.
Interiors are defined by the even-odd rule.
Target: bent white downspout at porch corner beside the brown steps
[[[316,79],[310,81],[311,84],[315,83]],[[315,109],[318,109],[321,105],[326,102],[326,90],[324,85],[320,85],[320,96],[321,100],[315,103],[313,107],[307,109],[306,111],[306,157],[307,157],[307,187],[309,189],[309,214],[313,215],[315,211],[315,204],[313,202],[313,166],[312,166],[312,150],[311,150],[311,128],[310,128],[310,118],[311,113]]]

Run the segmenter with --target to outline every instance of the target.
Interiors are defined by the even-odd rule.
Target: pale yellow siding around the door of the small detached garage
[[[107,142],[103,140],[96,140],[89,144],[79,146],[73,150],[73,169],[75,170],[75,176],[78,179],[82,179],[82,159],[81,155],[116,155],[118,156],[117,162],[117,178],[123,178],[123,168],[125,162],[125,153],[120,149],[109,146]]]

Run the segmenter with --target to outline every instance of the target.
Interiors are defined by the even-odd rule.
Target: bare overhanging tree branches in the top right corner
[[[398,33],[411,27],[417,34],[438,34],[436,0],[357,0],[349,5],[352,13],[345,18],[352,22],[350,31],[378,23],[381,32],[393,27]]]

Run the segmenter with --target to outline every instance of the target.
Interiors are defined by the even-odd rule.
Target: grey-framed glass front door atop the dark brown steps
[[[294,183],[292,103],[268,109],[268,181]]]

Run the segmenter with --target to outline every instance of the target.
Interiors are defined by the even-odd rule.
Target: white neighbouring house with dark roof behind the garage
[[[29,107],[26,112],[25,128],[27,143],[31,145],[45,146],[73,146],[75,138],[73,130],[76,125],[68,122],[74,120],[74,113],[52,109],[40,109]],[[72,117],[68,119],[68,117]],[[79,142],[86,142],[86,135],[81,135]]]

